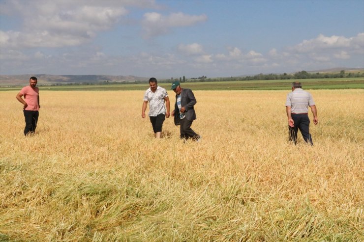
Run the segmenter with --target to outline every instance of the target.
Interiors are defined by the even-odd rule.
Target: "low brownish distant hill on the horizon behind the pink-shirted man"
[[[27,85],[30,77],[36,77],[38,84],[66,84],[66,83],[96,83],[103,81],[112,82],[134,82],[148,81],[149,78],[135,76],[110,76],[110,75],[46,75],[46,74],[27,74],[27,75],[0,75],[0,86],[8,85]]]

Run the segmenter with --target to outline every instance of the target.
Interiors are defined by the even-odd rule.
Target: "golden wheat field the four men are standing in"
[[[184,143],[172,117],[154,139],[144,91],[40,88],[27,137],[1,91],[0,241],[364,241],[364,90],[310,91],[312,147],[288,92],[194,91]]]

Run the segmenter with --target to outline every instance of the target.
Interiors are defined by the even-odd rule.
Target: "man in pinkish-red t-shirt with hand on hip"
[[[24,135],[33,134],[38,123],[40,105],[39,88],[36,87],[37,81],[36,77],[31,77],[29,80],[29,86],[23,87],[18,95],[16,95],[16,99],[24,105]],[[22,98],[23,96],[24,99]]]

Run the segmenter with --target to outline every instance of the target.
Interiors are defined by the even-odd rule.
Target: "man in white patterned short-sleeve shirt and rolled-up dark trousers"
[[[169,98],[166,89],[158,86],[155,78],[149,79],[149,86],[144,94],[142,118],[145,118],[145,110],[149,102],[149,118],[152,123],[154,137],[161,138],[163,122],[166,117],[169,117]]]

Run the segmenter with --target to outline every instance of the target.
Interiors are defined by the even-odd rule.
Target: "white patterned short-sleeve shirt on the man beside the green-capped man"
[[[149,102],[149,116],[155,117],[161,113],[166,114],[166,106],[164,105],[166,97],[168,97],[168,94],[163,87],[157,86],[155,92],[148,88],[143,100]]]

